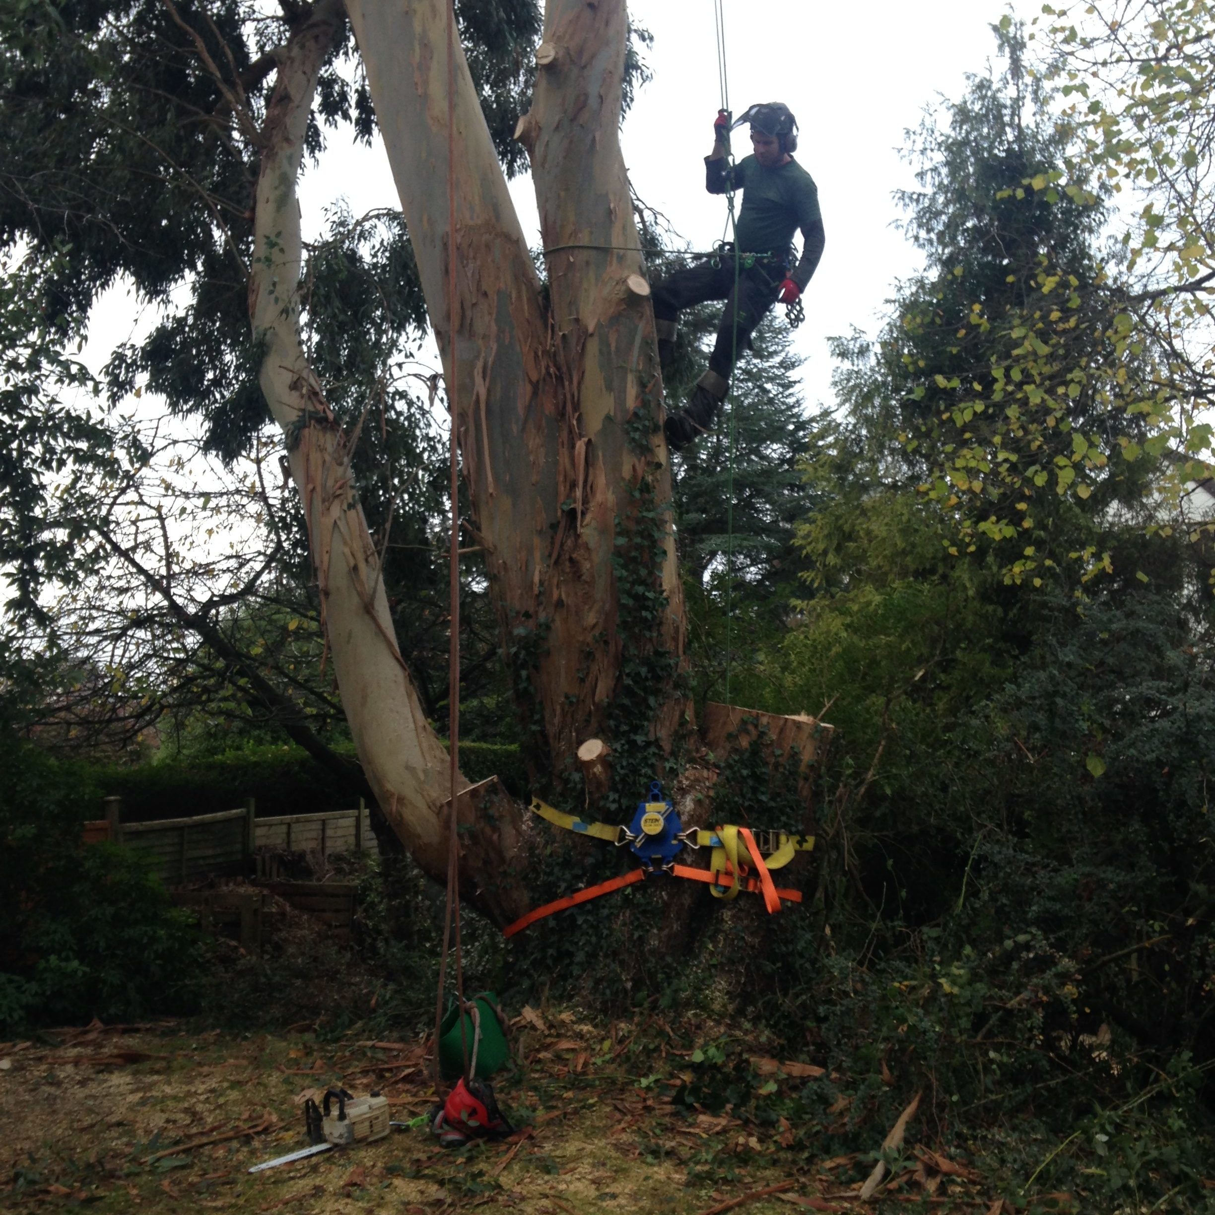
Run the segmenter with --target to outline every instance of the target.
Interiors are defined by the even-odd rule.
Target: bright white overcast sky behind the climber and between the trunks
[[[966,73],[985,69],[995,51],[989,26],[1011,9],[1005,0],[724,0],[724,7],[731,108],[786,102],[801,123],[797,159],[819,186],[826,252],[796,339],[813,408],[830,400],[826,339],[853,326],[874,332],[895,281],[919,266],[892,227],[892,193],[912,183],[900,157],[904,130],[939,96],[957,97]],[[633,186],[695,248],[711,248],[725,221],[724,199],[705,193],[702,163],[719,100],[712,0],[632,0],[631,12],[654,34],[646,56],[654,79],[623,131]],[[735,146],[748,148],[745,129]],[[513,182],[512,194],[538,245],[530,179]],[[300,186],[305,239],[323,231],[324,208],[340,197],[356,215],[397,205],[379,141],[364,148],[330,134]],[[107,293],[94,310],[87,362],[100,368],[117,341],[151,320],[137,317],[123,288]]]

